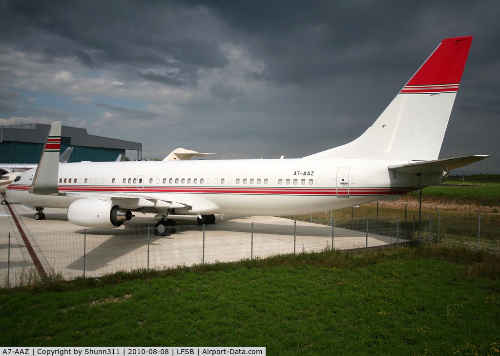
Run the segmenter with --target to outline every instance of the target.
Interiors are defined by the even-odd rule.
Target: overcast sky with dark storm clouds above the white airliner
[[[0,125],[51,123],[220,158],[302,157],[378,117],[473,35],[439,157],[495,157],[500,1],[0,0]],[[134,157],[131,157],[134,158]]]

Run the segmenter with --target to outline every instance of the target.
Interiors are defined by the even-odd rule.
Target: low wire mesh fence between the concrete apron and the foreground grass
[[[19,285],[49,275],[71,279],[118,270],[263,258],[275,254],[351,249],[403,242],[398,217],[336,219],[333,226],[280,220],[0,235],[0,283]]]

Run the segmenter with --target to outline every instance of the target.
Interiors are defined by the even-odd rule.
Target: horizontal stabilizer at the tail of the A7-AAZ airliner
[[[443,173],[488,157],[491,156],[476,154],[455,158],[426,160],[424,162],[389,165],[387,168],[400,173],[408,174]]]

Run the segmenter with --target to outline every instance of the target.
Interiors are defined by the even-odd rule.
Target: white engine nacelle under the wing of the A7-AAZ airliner
[[[78,226],[116,227],[132,216],[130,210],[120,209],[112,201],[98,199],[78,199],[67,209],[67,219]]]

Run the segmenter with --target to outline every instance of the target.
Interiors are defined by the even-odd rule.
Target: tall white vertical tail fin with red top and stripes
[[[444,39],[361,136],[304,158],[437,159],[471,42]]]

